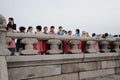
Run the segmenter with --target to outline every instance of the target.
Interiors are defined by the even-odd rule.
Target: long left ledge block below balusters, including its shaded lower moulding
[[[83,54],[7,56],[8,67],[38,66],[82,62]]]

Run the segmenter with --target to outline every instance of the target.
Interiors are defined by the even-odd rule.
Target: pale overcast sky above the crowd
[[[0,0],[0,14],[20,26],[62,25],[90,34],[120,34],[120,0]]]

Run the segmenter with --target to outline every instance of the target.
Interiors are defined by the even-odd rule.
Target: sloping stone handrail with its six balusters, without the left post
[[[25,44],[25,50],[22,51],[22,54],[37,54],[37,50],[34,50],[33,44],[37,43],[38,40],[46,40],[47,44],[50,45],[50,49],[47,50],[49,54],[59,54],[63,53],[63,50],[59,49],[62,41],[69,40],[69,44],[71,45],[70,53],[81,53],[81,49],[78,49],[77,45],[80,44],[81,41],[86,42],[86,52],[88,53],[96,53],[95,44],[98,42],[101,47],[100,51],[102,52],[110,52],[108,48],[110,43],[113,45],[113,51],[118,52],[120,45],[120,38],[107,38],[107,39],[95,39],[91,37],[76,37],[76,36],[59,36],[59,35],[46,35],[46,34],[27,34],[27,33],[7,33],[7,37],[14,39],[22,39],[22,43]]]

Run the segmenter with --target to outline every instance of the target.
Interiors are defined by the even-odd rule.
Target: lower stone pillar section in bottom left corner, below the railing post
[[[0,80],[8,80],[8,71],[5,56],[0,56]]]

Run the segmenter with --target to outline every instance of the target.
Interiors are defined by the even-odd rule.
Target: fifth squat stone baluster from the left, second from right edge
[[[101,52],[105,52],[105,53],[110,52],[110,49],[108,49],[109,48],[108,40],[102,40],[100,44],[101,44],[101,49],[100,49]]]

